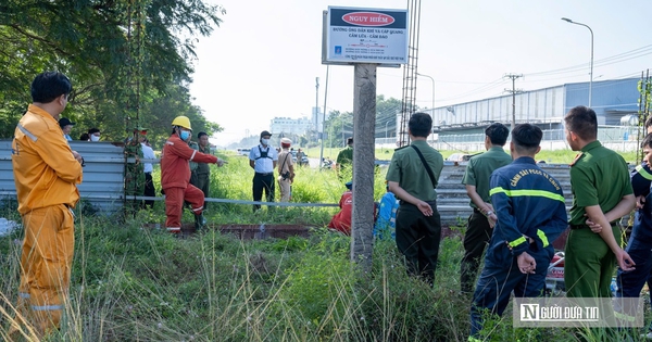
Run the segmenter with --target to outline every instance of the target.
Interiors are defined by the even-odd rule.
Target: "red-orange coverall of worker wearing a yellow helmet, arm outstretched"
[[[163,145],[161,159],[161,188],[165,191],[165,227],[167,231],[181,231],[184,201],[190,203],[195,215],[203,211],[203,192],[190,183],[188,162],[217,163],[217,157],[192,150],[176,134],[170,136]]]

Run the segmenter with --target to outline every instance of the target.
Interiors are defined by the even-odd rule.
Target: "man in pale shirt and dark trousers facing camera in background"
[[[253,176],[254,201],[261,201],[264,190],[267,202],[274,202],[274,169],[278,161],[278,152],[269,145],[271,137],[271,132],[263,130],[261,132],[261,143],[251,148],[249,152],[249,166],[255,172]],[[254,213],[260,208],[260,204],[253,205]]]

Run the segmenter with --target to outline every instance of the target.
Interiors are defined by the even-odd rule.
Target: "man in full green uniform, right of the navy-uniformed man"
[[[568,144],[573,151],[580,151],[570,164],[573,206],[564,268],[567,296],[610,297],[614,265],[617,263],[624,271],[635,266],[620,248],[616,225],[636,203],[629,170],[619,154],[597,140],[593,110],[576,106],[564,122]]]

